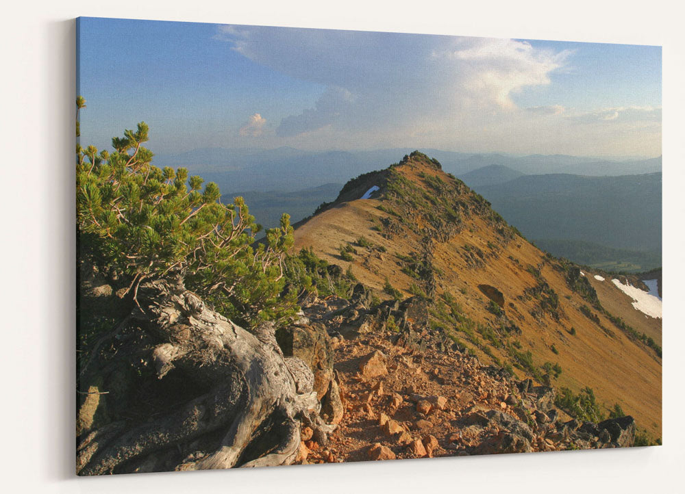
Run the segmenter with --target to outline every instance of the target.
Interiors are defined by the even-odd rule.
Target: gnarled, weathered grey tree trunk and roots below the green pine
[[[334,427],[319,417],[312,371],[301,359],[284,357],[273,324],[249,333],[184,287],[166,283],[140,287],[138,300],[142,311],[136,307],[133,318],[158,341],[152,352],[157,377],[173,369],[204,389],[209,383],[210,391],[154,419],[116,421],[82,434],[79,475],[169,465],[179,470],[287,465],[297,456],[301,424],[325,443]],[[195,444],[211,449],[182,458],[178,445],[199,438],[205,440]],[[166,467],[160,456],[167,458]]]

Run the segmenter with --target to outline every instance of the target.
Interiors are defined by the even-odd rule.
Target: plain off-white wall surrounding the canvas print
[[[7,492],[673,492],[682,489],[682,12],[669,1],[194,0],[3,5],[0,485]],[[675,5],[675,3],[673,3]],[[664,446],[258,471],[73,476],[74,22],[80,15],[664,46]],[[103,75],[106,77],[106,75]]]

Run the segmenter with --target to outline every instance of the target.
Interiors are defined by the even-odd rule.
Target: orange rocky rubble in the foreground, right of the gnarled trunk
[[[332,340],[334,378],[322,412],[328,409],[327,418],[339,426],[326,445],[303,430],[298,463],[633,444],[632,417],[577,421],[555,408],[551,387],[516,380],[458,352],[429,329],[420,298],[371,308],[358,285],[349,302],[309,300],[304,313],[301,324],[325,328]]]

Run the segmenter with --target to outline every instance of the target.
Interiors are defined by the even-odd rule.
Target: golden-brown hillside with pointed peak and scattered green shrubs
[[[427,296],[433,328],[483,363],[575,393],[590,387],[661,437],[660,348],[645,343],[660,345],[661,320],[610,278],[545,255],[437,161],[412,153],[350,181],[297,226],[304,247],[351,268],[379,298]]]

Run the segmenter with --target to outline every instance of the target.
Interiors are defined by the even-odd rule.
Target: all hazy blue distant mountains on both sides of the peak
[[[158,155],[155,164],[186,166],[218,183],[225,202],[243,196],[258,222],[271,228],[283,212],[293,223],[310,216],[319,204],[336,198],[341,183],[411,151],[204,148]],[[540,246],[554,255],[629,268],[660,265],[661,157],[614,161],[424,152],[482,194],[527,238],[543,239]]]

